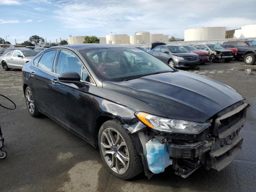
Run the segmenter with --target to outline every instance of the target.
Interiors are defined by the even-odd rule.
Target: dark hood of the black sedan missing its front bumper
[[[130,104],[136,110],[196,122],[205,122],[224,108],[244,100],[238,92],[225,84],[183,71],[124,82],[103,81],[102,85],[103,88],[136,98],[136,106]],[[143,107],[138,105],[138,100]],[[145,108],[145,103],[150,111]]]

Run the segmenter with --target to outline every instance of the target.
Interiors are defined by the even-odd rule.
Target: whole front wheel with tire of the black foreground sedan
[[[104,164],[117,178],[126,180],[143,170],[142,159],[122,124],[108,120],[100,127],[98,146]]]

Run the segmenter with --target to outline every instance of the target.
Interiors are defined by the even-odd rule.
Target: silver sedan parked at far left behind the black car
[[[34,50],[13,50],[0,57],[0,62],[4,70],[8,71],[10,68],[21,69],[23,65],[30,62],[38,51]]]

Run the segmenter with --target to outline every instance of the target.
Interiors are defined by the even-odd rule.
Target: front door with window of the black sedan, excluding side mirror
[[[88,72],[83,68],[82,62],[76,55],[67,50],[60,50],[53,78],[54,83],[50,85],[54,116],[72,130],[91,140],[93,133],[88,130],[87,120],[90,84],[78,88],[74,84],[59,82],[59,74],[65,72],[77,72],[82,76],[81,80],[90,81]]]

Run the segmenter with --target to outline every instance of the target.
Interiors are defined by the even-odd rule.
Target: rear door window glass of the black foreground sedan
[[[47,71],[52,71],[52,64],[55,58],[57,50],[48,51],[44,53],[41,57],[40,61],[38,62],[38,67],[45,69]]]

